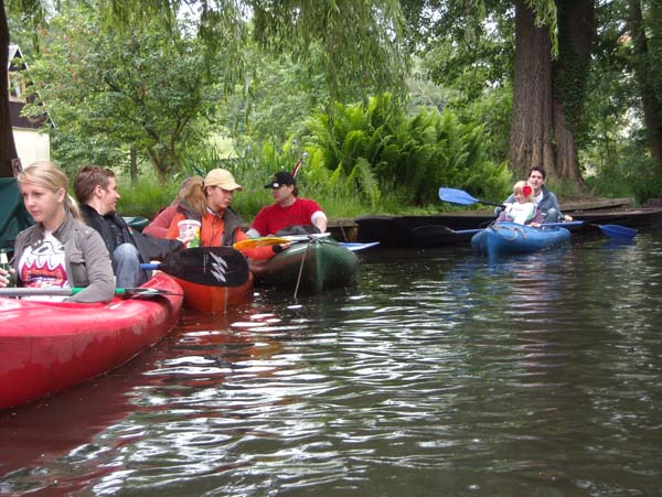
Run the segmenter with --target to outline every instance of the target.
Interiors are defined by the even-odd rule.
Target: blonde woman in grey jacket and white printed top
[[[64,171],[52,162],[35,162],[19,174],[18,182],[25,209],[36,222],[17,237],[12,263],[18,285],[85,287],[68,302],[113,299],[110,256],[99,234],[79,220]],[[6,285],[7,278],[0,274],[0,287]]]

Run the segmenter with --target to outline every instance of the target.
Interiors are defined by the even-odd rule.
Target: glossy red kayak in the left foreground
[[[182,289],[158,273],[143,287],[172,292],[107,304],[0,299],[0,409],[114,369],[177,324]]]

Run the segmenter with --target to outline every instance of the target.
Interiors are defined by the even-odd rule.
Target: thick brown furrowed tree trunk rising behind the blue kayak
[[[554,174],[554,109],[552,105],[552,44],[545,28],[524,0],[515,1],[515,64],[510,164],[517,177],[532,165]]]

